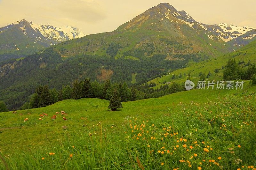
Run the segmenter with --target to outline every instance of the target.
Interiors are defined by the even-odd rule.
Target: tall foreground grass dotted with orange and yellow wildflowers
[[[255,105],[254,93],[227,96],[180,103],[157,119],[128,116],[122,127],[65,130],[65,140],[49,148],[1,153],[0,169],[253,169]]]

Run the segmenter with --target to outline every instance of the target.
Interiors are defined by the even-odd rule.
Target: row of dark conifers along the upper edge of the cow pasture
[[[110,100],[113,93],[117,90],[121,102],[134,101],[148,98],[157,98],[167,94],[180,92],[184,90],[184,85],[173,83],[170,86],[164,85],[157,89],[149,88],[148,84],[135,85],[128,87],[124,83],[111,83],[107,80],[105,83],[98,81],[91,82],[90,78],[85,78],[84,81],[75,80],[71,88],[69,85],[62,86],[57,91],[55,88],[49,89],[48,85],[38,86],[35,93],[32,95],[29,102],[26,102],[21,108],[37,108],[51,105],[57,101],[66,99],[80,98],[100,98]]]

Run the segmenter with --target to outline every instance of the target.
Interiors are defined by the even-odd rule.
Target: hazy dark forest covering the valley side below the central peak
[[[116,46],[113,44],[108,49],[109,54],[115,52]],[[92,81],[104,82],[102,70],[111,70],[108,77],[111,82],[126,82],[128,86],[132,85],[132,74],[136,74],[135,85],[141,85],[169,69],[184,67],[191,60],[170,61],[165,58],[166,55],[140,57],[140,60],[95,55],[61,57],[53,48],[47,48],[19,61],[11,59],[0,63],[0,100],[9,110],[19,109],[30,100],[38,85],[60,90],[62,85],[72,86],[75,79],[82,81],[88,77]]]

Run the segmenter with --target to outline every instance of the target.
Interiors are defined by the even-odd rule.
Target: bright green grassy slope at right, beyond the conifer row
[[[232,53],[228,53],[225,55],[221,55],[219,57],[213,58],[213,59],[209,59],[203,62],[199,62],[199,63],[188,63],[186,65],[186,68],[183,69],[179,69],[179,70],[175,70],[169,73],[169,75],[164,75],[161,78],[155,78],[150,82],[156,83],[156,87],[153,88],[157,88],[160,87],[161,85],[164,85],[163,82],[185,82],[187,80],[188,77],[188,73],[190,73],[191,76],[191,81],[193,81],[194,83],[196,83],[198,81],[199,78],[199,73],[203,72],[206,75],[208,74],[209,71],[211,71],[211,76],[209,76],[209,80],[222,80],[222,76],[223,76],[223,69],[222,67],[227,64],[228,59],[236,59],[236,62],[242,62],[244,61],[244,63],[248,63],[250,61],[250,63],[256,63],[256,41],[252,41],[251,43],[249,43],[248,45],[244,46],[243,48],[232,52]],[[243,66],[243,65],[241,65]],[[214,70],[215,69],[220,69],[219,72],[215,73]],[[182,74],[182,77],[179,78],[180,73]],[[184,73],[186,73],[186,76],[184,76]],[[175,79],[172,79],[173,74],[175,74]]]

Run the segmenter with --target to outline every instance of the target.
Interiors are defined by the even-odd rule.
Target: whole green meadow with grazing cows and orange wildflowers
[[[0,168],[253,166],[255,147],[250,143],[255,138],[250,134],[255,135],[255,90],[248,82],[243,90],[191,90],[124,102],[116,112],[107,110],[107,100],[87,98],[1,113],[1,151],[11,157],[2,159]],[[65,111],[68,121],[61,115],[51,120],[56,111]],[[39,121],[42,112],[49,116]]]

